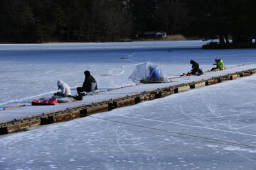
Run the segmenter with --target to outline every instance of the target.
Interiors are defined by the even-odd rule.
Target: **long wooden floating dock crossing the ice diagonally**
[[[60,103],[55,106],[21,106],[0,111],[0,134],[18,132],[36,125],[58,123],[87,115],[131,106],[190,89],[218,84],[222,81],[247,77],[256,73],[256,64],[244,64],[223,71],[206,72],[201,76],[176,77],[169,83],[137,84],[85,96],[82,101]]]

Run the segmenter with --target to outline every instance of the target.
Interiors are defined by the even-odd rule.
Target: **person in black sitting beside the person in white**
[[[92,91],[92,83],[95,83],[95,78],[92,77],[92,75],[90,74],[90,72],[88,70],[86,70],[84,72],[85,74],[85,81],[82,84],[82,87],[78,87],[77,91],[78,91],[78,95],[80,94],[80,92],[85,91],[85,92],[90,92]],[[97,89],[97,86],[96,86]]]

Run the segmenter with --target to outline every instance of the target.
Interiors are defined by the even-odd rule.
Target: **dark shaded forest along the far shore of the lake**
[[[0,0],[1,43],[139,40],[146,31],[255,43],[255,0]]]

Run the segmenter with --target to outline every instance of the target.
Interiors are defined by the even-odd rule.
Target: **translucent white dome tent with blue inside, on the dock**
[[[167,78],[162,72],[160,66],[151,62],[144,62],[137,65],[129,79],[132,79],[134,83],[167,82]]]

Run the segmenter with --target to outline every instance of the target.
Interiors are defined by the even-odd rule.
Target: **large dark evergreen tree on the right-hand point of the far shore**
[[[204,38],[215,38],[220,44],[252,42],[255,33],[255,1],[253,0],[192,0],[190,14],[193,32]]]

